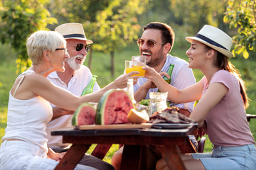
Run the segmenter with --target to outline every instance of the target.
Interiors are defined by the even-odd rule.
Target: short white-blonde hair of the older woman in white
[[[33,64],[43,61],[43,51],[54,52],[56,48],[66,46],[63,35],[56,31],[38,30],[33,33],[26,42],[28,57]]]

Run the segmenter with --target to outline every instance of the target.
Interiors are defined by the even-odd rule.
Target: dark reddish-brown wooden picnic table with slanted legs
[[[51,135],[62,135],[63,143],[72,143],[55,169],[74,169],[92,144],[122,144],[121,169],[146,169],[146,145],[160,146],[169,150],[166,161],[174,169],[185,169],[176,147],[191,145],[188,135],[195,130],[191,125],[180,129],[97,129],[97,130],[56,130]],[[108,148],[109,149],[109,148]]]

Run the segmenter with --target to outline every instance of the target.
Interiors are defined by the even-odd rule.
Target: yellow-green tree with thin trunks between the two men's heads
[[[137,39],[141,30],[137,15],[146,10],[149,0],[95,0],[87,1],[55,0],[49,11],[59,19],[59,23],[79,22],[85,34],[93,40],[89,66],[93,50],[109,53],[114,77],[114,52]],[[60,18],[59,18],[60,16]]]

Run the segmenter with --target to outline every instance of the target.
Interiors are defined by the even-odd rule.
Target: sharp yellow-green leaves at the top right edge
[[[238,35],[233,36],[233,55],[242,53],[247,59],[248,51],[256,51],[256,1],[228,0],[223,21],[228,23],[230,28],[238,28]]]

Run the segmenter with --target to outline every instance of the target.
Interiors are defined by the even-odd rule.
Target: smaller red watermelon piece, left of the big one
[[[95,108],[89,103],[82,103],[75,111],[72,118],[72,125],[93,125],[95,124]]]

